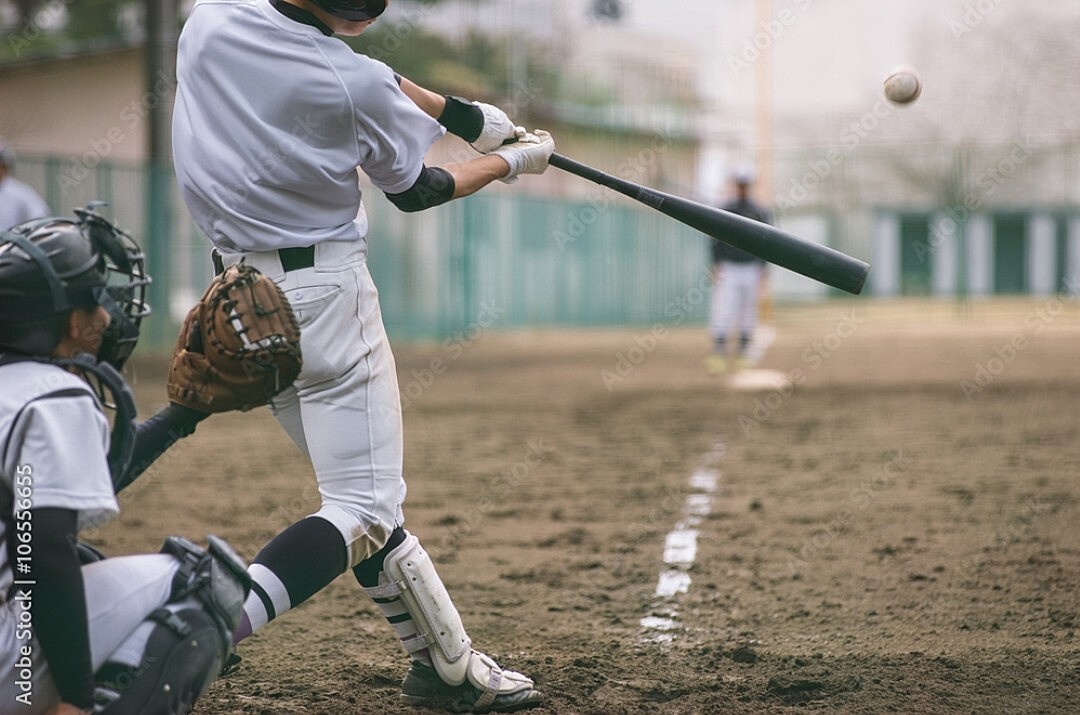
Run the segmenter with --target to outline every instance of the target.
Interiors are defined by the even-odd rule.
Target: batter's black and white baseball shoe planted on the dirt
[[[495,665],[494,661],[491,662]],[[415,707],[443,709],[451,713],[512,713],[536,707],[542,701],[532,680],[513,671],[495,665],[495,677],[487,689],[477,688],[468,678],[461,685],[447,685],[435,669],[417,661],[408,669],[402,683],[402,700]],[[503,679],[516,687],[501,687]]]

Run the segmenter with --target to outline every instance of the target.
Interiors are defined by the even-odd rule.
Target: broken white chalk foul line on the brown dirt
[[[690,568],[698,557],[698,526],[713,509],[713,498],[720,473],[713,464],[724,455],[724,446],[718,444],[706,457],[706,467],[701,467],[690,475],[690,488],[686,498],[683,518],[664,539],[664,570],[657,579],[653,602],[649,615],[640,620],[646,643],[671,643],[675,632],[681,628],[674,599],[690,590]]]

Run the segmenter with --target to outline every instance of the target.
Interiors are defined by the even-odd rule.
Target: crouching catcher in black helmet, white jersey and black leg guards
[[[226,658],[248,579],[214,537],[210,553],[170,538],[160,554],[80,564],[77,535],[117,514],[132,458],[119,368],[149,279],[126,234],[77,213],[0,233],[0,712],[186,713]],[[98,394],[116,404],[111,435]]]

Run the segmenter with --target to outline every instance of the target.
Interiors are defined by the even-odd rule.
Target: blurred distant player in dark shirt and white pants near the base
[[[720,208],[756,221],[772,224],[770,212],[750,195],[754,179],[752,168],[735,170],[731,175],[734,199],[720,205]],[[713,345],[707,367],[711,373],[723,373],[728,367],[730,352],[734,352],[738,366],[748,364],[747,349],[757,327],[758,300],[768,291],[769,271],[764,260],[745,251],[713,238],[710,238],[710,245],[713,298],[708,311],[708,333]],[[728,342],[732,334],[738,340],[733,351],[729,349]]]

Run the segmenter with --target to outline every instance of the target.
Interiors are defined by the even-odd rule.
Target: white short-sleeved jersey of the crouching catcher
[[[106,458],[109,424],[97,397],[80,377],[55,365],[22,362],[0,366],[0,602],[15,580],[22,526],[30,509],[78,512],[80,529],[119,513]],[[9,529],[14,526],[16,538]],[[32,557],[32,539],[24,556]],[[2,628],[2,621],[0,621]],[[0,643],[3,638],[0,637]]]

